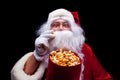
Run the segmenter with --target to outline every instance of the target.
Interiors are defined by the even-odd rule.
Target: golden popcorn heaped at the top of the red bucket
[[[52,51],[50,60],[59,66],[76,66],[81,63],[80,58],[70,50]]]

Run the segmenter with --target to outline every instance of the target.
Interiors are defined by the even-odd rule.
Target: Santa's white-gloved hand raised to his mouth
[[[49,40],[54,38],[52,32],[53,30],[45,31],[36,38],[34,56],[37,61],[42,61],[44,56],[47,54],[49,49]]]

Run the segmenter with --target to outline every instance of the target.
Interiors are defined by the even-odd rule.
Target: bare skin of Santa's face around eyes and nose
[[[62,31],[62,30],[68,30],[70,31],[70,24],[67,20],[64,20],[62,18],[56,19],[54,20],[51,25],[50,28],[54,31]]]

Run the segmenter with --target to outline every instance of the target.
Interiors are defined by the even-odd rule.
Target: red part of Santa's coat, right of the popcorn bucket
[[[111,75],[97,60],[90,46],[84,44],[82,49],[84,56],[84,80],[113,80]]]

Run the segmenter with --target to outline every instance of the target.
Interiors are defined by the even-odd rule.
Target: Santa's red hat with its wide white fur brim
[[[60,8],[56,9],[49,13],[48,15],[48,24],[50,25],[55,19],[65,19],[70,23],[76,22],[78,25],[80,25],[80,20],[78,16],[78,12],[70,12],[66,9]]]

